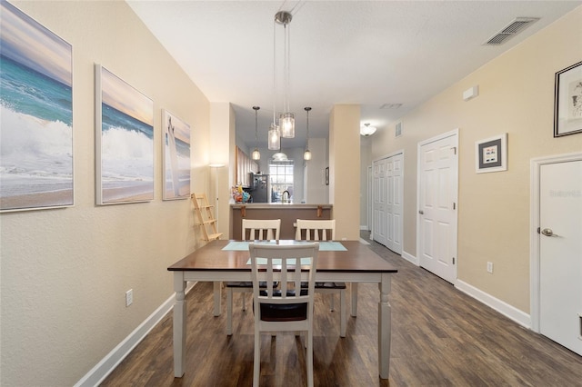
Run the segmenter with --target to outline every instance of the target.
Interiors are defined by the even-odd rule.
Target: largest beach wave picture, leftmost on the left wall
[[[73,47],[0,2],[0,212],[74,204],[72,84]]]

